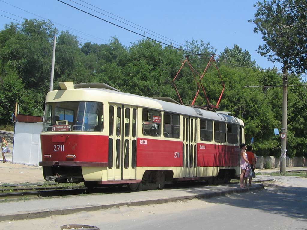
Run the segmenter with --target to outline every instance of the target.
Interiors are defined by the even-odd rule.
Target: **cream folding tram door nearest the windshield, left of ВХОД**
[[[109,106],[108,180],[135,179],[136,107]]]

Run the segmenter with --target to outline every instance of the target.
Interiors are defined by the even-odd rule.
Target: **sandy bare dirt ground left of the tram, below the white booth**
[[[0,162],[0,185],[41,182],[45,182],[41,167]]]

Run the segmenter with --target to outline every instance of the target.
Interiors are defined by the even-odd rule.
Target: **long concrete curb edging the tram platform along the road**
[[[191,200],[197,198],[212,198],[218,196],[225,196],[228,194],[234,193],[243,193],[255,190],[264,189],[262,184],[257,184],[252,187],[246,188],[231,188],[224,191],[215,191],[215,192],[208,192],[203,194],[196,194],[191,196],[181,196],[181,197],[172,197],[172,198],[161,198],[155,200],[144,200],[144,201],[130,201],[130,202],[119,202],[115,204],[109,205],[95,205],[95,206],[85,206],[85,207],[76,207],[76,208],[68,208],[68,209],[54,209],[54,210],[45,210],[45,211],[34,211],[34,212],[23,212],[23,213],[16,213],[10,215],[1,215],[0,221],[6,220],[24,220],[24,219],[35,219],[35,218],[44,218],[50,217],[53,215],[68,215],[78,212],[91,212],[91,211],[98,211],[101,209],[110,209],[112,207],[119,207],[119,206],[140,206],[140,205],[152,205],[152,204],[164,204],[168,202],[180,201],[180,200]]]

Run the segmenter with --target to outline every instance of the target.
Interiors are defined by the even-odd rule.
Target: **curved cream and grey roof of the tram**
[[[212,111],[208,111],[205,109],[200,109],[200,108],[195,108],[187,105],[180,105],[177,103],[173,102],[167,102],[163,100],[158,100],[154,98],[148,98],[136,94],[129,94],[129,93],[124,93],[124,92],[119,92],[115,90],[108,90],[108,89],[99,89],[99,88],[81,88],[81,89],[71,89],[71,90],[65,90],[65,94],[68,92],[76,92],[79,90],[82,91],[87,91],[90,90],[90,94],[83,94],[86,95],[85,98],[82,99],[82,101],[85,100],[91,100],[91,101],[99,101],[97,98],[100,98],[100,95],[104,98],[104,100],[107,100],[110,103],[118,103],[118,104],[126,104],[126,105],[135,105],[138,107],[145,107],[149,109],[157,109],[157,110],[162,110],[166,112],[171,112],[171,113],[178,113],[181,115],[187,115],[187,116],[192,116],[192,117],[199,117],[203,119],[210,119],[214,121],[222,121],[222,122],[227,122],[227,123],[234,123],[238,125],[244,126],[244,123],[241,119],[222,114],[222,113],[216,113]],[[58,91],[63,91],[63,90],[55,90],[51,91],[48,94],[52,97],[51,94],[55,94],[56,96]],[[95,92],[95,93],[94,93]],[[78,94],[79,94],[78,93]],[[97,94],[96,94],[97,93]],[[99,95],[100,94],[100,95]],[[49,95],[47,95],[46,102],[51,102],[53,100],[50,100]],[[66,94],[67,95],[67,94]],[[80,94],[79,94],[80,95]],[[48,100],[49,98],[49,100]],[[57,97],[58,98],[58,97]],[[69,99],[68,99],[69,98]],[[55,101],[75,101],[78,100],[76,97],[69,97],[68,95],[65,96],[64,98],[58,98],[60,100],[55,100]],[[95,98],[95,99],[94,99]]]

